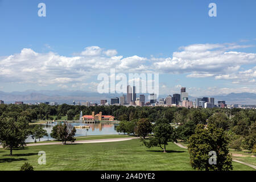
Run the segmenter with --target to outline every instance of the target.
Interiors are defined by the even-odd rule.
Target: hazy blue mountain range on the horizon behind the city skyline
[[[147,94],[146,99],[147,99]],[[2,92],[0,91],[0,100],[5,101],[6,104],[14,103],[15,101],[23,101],[24,103],[34,102],[58,102],[59,104],[72,104],[73,101],[90,101],[99,103],[100,100],[108,100],[110,98],[119,97],[121,94],[100,94],[96,92],[85,92],[81,90],[26,90],[24,92]],[[160,95],[159,98],[165,98],[166,95]],[[256,105],[255,93],[230,93],[223,96],[202,96],[214,97],[215,104],[218,101],[226,101],[227,104],[244,104]],[[189,100],[195,101],[196,97],[189,96]]]

